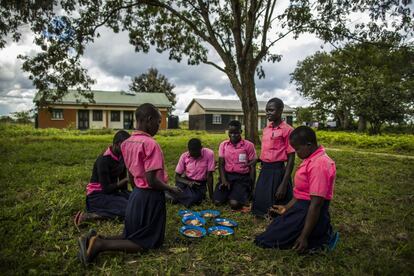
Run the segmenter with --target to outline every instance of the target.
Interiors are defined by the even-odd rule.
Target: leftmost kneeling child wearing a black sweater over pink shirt
[[[84,221],[96,219],[123,219],[130,192],[127,189],[127,171],[121,145],[130,137],[125,130],[118,131],[112,146],[96,159],[92,176],[86,186],[86,210],[75,215],[76,228]]]

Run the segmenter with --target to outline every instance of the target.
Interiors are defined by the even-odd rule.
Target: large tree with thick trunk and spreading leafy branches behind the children
[[[190,65],[205,63],[226,74],[242,103],[246,138],[253,142],[258,141],[255,74],[264,77],[261,64],[280,60],[275,49],[279,40],[305,32],[314,33],[324,41],[361,40],[377,38],[390,31],[396,36],[405,35],[413,29],[411,10],[407,6],[410,0],[291,0],[285,3],[276,0],[9,0],[2,3],[0,46],[4,45],[1,38],[5,34],[11,33],[14,39],[19,39],[21,23],[29,23],[38,34],[36,43],[44,52],[26,57],[24,70],[30,72],[42,100],[51,97],[50,86],[57,88],[57,95],[52,96],[56,99],[69,87],[81,90],[93,84],[79,58],[86,45],[99,35],[99,28],[106,26],[114,32],[129,32],[130,43],[136,51],[148,52],[150,47],[155,47],[158,52],[169,51],[170,59],[181,61],[186,57]],[[56,13],[65,15],[60,18],[64,24],[50,23]],[[347,17],[361,13],[369,15],[369,24],[352,24]],[[87,91],[82,93],[91,96]]]

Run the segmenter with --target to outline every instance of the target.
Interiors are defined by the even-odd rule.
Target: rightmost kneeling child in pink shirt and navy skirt
[[[300,126],[290,135],[290,143],[302,163],[295,174],[293,198],[286,205],[274,205],[276,217],[255,243],[261,247],[305,252],[333,248],[338,233],[333,233],[329,204],[336,176],[335,162],[318,146],[315,132]]]

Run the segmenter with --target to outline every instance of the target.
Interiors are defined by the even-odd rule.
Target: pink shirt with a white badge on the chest
[[[221,142],[219,157],[224,158],[224,170],[229,173],[249,173],[247,163],[257,158],[254,144],[248,140],[240,140],[233,145],[230,140]]]

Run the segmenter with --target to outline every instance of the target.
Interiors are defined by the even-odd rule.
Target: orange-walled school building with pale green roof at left
[[[77,129],[133,129],[135,110],[143,103],[151,103],[161,112],[161,129],[167,127],[167,109],[171,103],[164,93],[133,93],[124,91],[92,91],[94,103],[69,90],[61,101],[39,107],[37,127]],[[33,100],[39,102],[39,94]]]

